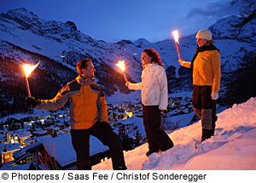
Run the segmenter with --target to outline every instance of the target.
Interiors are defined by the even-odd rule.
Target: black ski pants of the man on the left
[[[122,140],[113,132],[107,122],[97,122],[90,129],[71,130],[72,144],[77,154],[77,169],[91,169],[90,134],[101,140],[103,145],[109,147],[113,169],[127,169]]]

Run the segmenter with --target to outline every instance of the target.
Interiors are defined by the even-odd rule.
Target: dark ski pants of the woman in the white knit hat
[[[212,86],[196,86],[193,88],[192,105],[196,116],[201,118],[201,141],[211,138],[215,131],[216,100],[212,100]]]

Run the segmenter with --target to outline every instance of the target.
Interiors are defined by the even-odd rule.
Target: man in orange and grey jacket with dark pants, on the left
[[[122,140],[108,123],[105,95],[94,83],[95,67],[90,59],[77,64],[79,77],[67,83],[53,100],[26,97],[28,106],[54,111],[69,101],[69,128],[73,148],[77,154],[77,169],[90,170],[90,134],[109,147],[113,169],[125,170]]]

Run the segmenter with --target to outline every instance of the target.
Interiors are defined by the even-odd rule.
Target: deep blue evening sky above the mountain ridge
[[[44,20],[72,20],[95,39],[117,42],[146,38],[157,42],[208,28],[216,20],[238,14],[230,0],[0,0],[0,13],[26,8]]]

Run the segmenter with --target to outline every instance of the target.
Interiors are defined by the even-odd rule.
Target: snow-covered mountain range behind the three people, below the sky
[[[227,72],[235,71],[241,58],[255,49],[255,43],[238,41],[233,36],[229,22],[237,19],[239,18],[236,16],[230,16],[218,20],[210,27],[221,51],[223,76]],[[0,14],[0,90],[3,107],[17,109],[25,106],[26,85],[20,69],[25,62],[36,64],[40,61],[29,78],[32,95],[38,98],[54,97],[63,84],[76,76],[77,61],[86,57],[93,60],[96,66],[96,82],[102,86],[107,96],[129,94],[131,91],[126,89],[125,80],[115,65],[118,60],[125,60],[125,74],[128,79],[131,82],[140,82],[140,57],[146,48],[154,48],[160,53],[166,68],[169,93],[192,89],[191,72],[179,66],[177,51],[171,39],[157,43],[150,43],[143,38],[134,43],[129,40],[106,43],[85,35],[72,21],[63,23],[42,20],[26,9],[9,10]],[[195,34],[180,37],[183,60],[191,60],[195,48]],[[224,80],[222,85],[224,86]]]

